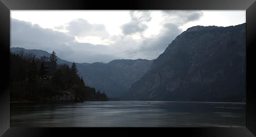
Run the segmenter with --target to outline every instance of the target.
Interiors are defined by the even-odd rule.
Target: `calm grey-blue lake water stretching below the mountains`
[[[242,126],[245,103],[88,101],[11,103],[11,126],[172,127]]]

